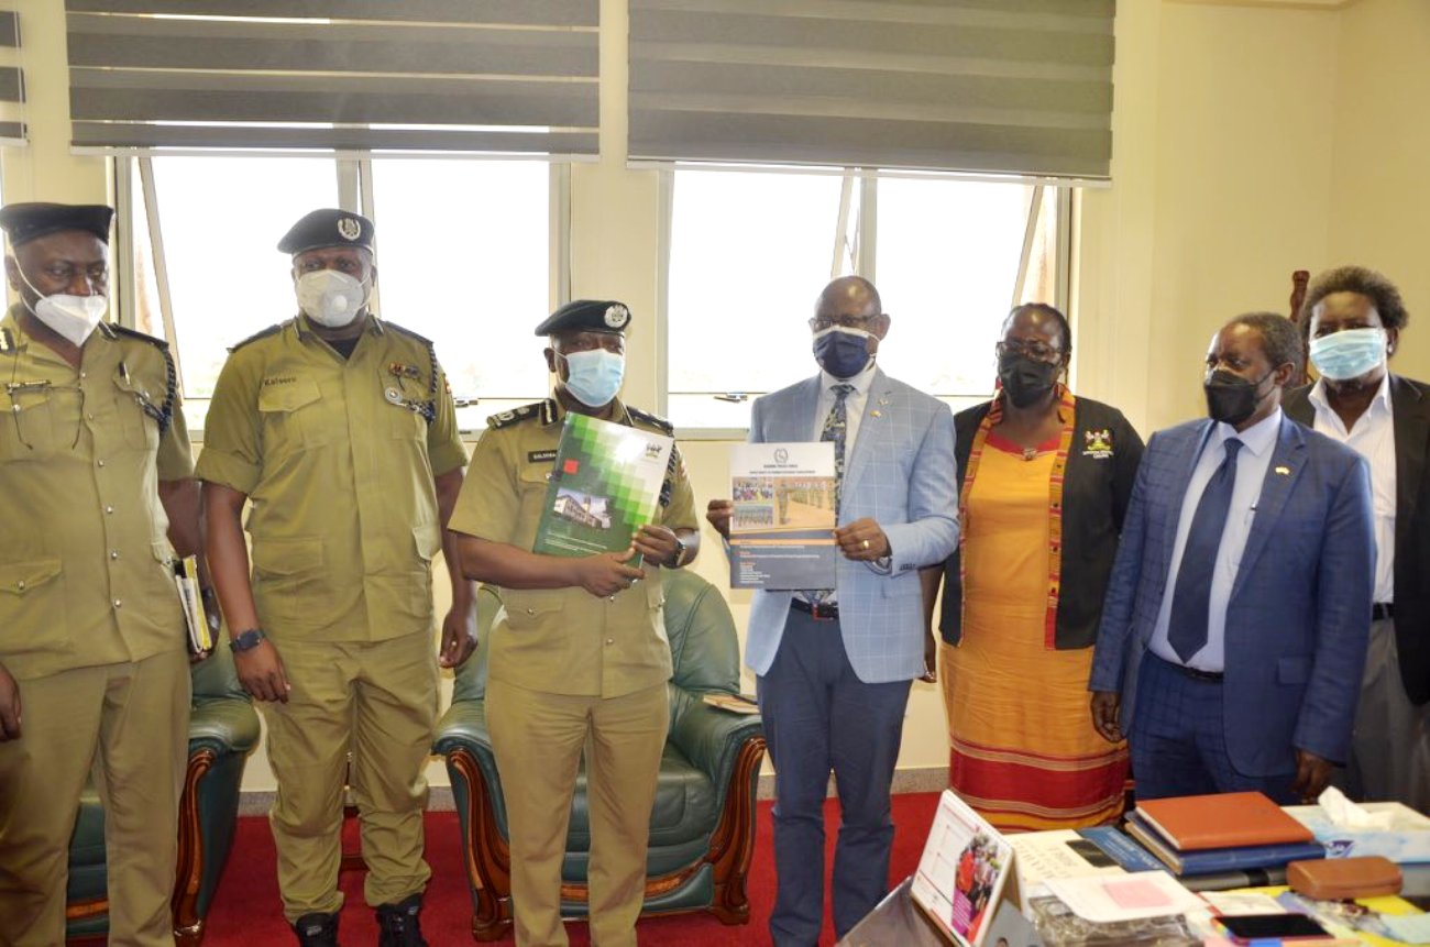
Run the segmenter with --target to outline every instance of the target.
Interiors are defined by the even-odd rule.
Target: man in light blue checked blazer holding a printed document
[[[755,401],[749,442],[832,441],[841,559],[834,589],[756,591],[745,662],[775,765],[775,944],[818,943],[824,920],[824,797],[842,824],[834,927],[844,936],[888,888],[889,785],[909,682],[924,674],[919,566],[958,539],[954,419],[940,401],[874,365],[889,329],[878,290],[829,283],[809,320],[819,375]],[[706,516],[729,535],[729,501]]]

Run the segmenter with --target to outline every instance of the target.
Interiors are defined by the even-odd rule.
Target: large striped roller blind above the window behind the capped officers
[[[66,0],[77,147],[595,154],[598,0]]]

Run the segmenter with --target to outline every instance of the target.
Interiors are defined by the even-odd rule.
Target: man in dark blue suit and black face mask
[[[1138,798],[1310,800],[1347,755],[1376,545],[1366,462],[1284,418],[1300,333],[1238,316],[1207,352],[1208,419],[1153,436],[1103,609],[1093,721]]]

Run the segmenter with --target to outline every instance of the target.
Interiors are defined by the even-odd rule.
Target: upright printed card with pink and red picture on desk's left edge
[[[914,903],[960,947],[981,947],[1011,871],[1012,845],[944,790],[909,888]]]

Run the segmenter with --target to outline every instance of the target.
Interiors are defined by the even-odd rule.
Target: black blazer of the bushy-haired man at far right
[[[1311,386],[1287,392],[1281,409],[1316,423]],[[1430,385],[1391,373],[1396,435],[1396,649],[1400,679],[1414,704],[1430,701]]]

